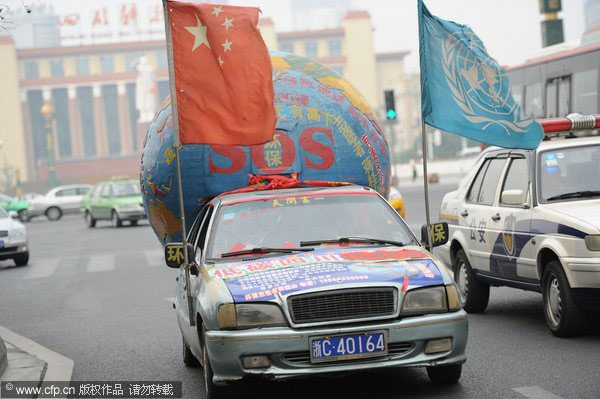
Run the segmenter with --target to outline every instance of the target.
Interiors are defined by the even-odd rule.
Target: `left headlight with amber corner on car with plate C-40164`
[[[219,328],[286,326],[281,308],[270,303],[227,303],[219,307]]]

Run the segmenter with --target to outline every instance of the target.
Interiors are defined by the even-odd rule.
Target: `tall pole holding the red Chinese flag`
[[[177,89],[175,87],[175,64],[173,60],[173,36],[171,35],[171,23],[169,21],[169,5],[167,0],[163,2],[163,13],[165,16],[165,35],[167,38],[167,60],[169,62],[169,91],[171,94],[171,111],[173,118],[173,145],[175,146],[175,162],[177,164],[177,187],[179,194],[179,214],[181,219],[181,234],[183,244],[183,268],[185,269],[185,290],[188,302],[188,318],[190,326],[195,326],[194,309],[192,301],[192,288],[190,276],[190,260],[187,250],[187,232],[185,228],[185,208],[183,201],[183,185],[181,184],[181,162],[179,150],[181,148],[181,137],[179,134],[179,113],[177,112]]]

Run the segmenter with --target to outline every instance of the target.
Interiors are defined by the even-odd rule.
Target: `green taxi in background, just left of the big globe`
[[[140,184],[136,180],[112,180],[98,183],[83,199],[81,208],[88,227],[98,220],[110,220],[114,227],[124,221],[135,226],[146,218]]]

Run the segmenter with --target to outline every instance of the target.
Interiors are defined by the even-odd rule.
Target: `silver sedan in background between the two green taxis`
[[[63,215],[81,212],[81,199],[92,189],[89,184],[71,184],[55,187],[46,195],[31,200],[29,218],[46,216],[58,220]]]

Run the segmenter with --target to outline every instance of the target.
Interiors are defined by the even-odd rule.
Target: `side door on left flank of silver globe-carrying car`
[[[206,233],[212,215],[212,206],[206,205],[200,210],[190,232],[188,234],[188,242],[193,244],[195,253],[190,261],[200,265],[202,262],[202,252],[204,250],[204,242],[206,241]],[[175,309],[177,310],[177,319],[179,327],[188,344],[196,344],[199,347],[198,334],[196,327],[190,326],[188,295],[185,285],[186,271],[180,268],[177,276],[177,292],[175,297]],[[192,304],[195,306],[195,293],[197,292],[198,276],[197,273],[190,273],[190,292],[192,293]],[[192,314],[196,314],[196,309],[193,309]]]

